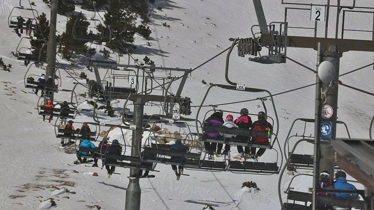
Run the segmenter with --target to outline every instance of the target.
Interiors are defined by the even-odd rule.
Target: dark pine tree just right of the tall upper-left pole
[[[83,18],[82,13],[71,15],[66,23],[66,30],[61,34],[61,42],[59,43],[59,53],[62,54],[62,58],[64,59],[69,60],[74,53],[81,55],[86,55],[87,53],[87,41],[76,40],[73,37],[73,26],[77,20],[76,27],[74,27],[74,34],[81,36],[88,34],[87,30],[90,23]],[[92,31],[90,32],[92,33]]]

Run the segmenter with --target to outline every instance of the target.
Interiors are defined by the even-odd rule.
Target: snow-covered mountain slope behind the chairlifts
[[[22,1],[26,5],[26,1]],[[284,19],[284,6],[280,0],[263,0],[264,12],[267,22],[282,21]],[[304,2],[304,1],[303,1]],[[308,3],[309,1],[305,1]],[[320,2],[320,1],[318,1]],[[317,2],[317,3],[318,3]],[[321,0],[322,2],[322,0]],[[49,8],[42,0],[35,0],[35,9],[39,14],[49,14]],[[350,4],[343,1],[342,4]],[[374,6],[370,0],[360,1],[359,6]],[[53,198],[56,209],[88,209],[94,205],[102,209],[123,209],[125,205],[125,190],[128,185],[128,169],[118,169],[121,175],[113,175],[106,179],[105,170],[89,168],[82,165],[70,167],[75,159],[74,154],[67,154],[67,150],[59,148],[59,140],[55,138],[53,126],[42,123],[37,115],[37,96],[29,92],[23,86],[25,71],[23,62],[17,61],[10,54],[15,51],[19,38],[7,27],[7,16],[13,6],[17,6],[17,0],[0,1],[0,57],[6,64],[12,64],[12,72],[0,70],[0,208],[1,209],[37,209],[48,207],[48,203],[41,203],[47,198]],[[220,53],[230,46],[230,37],[250,37],[250,28],[257,24],[253,5],[248,0],[156,0],[152,7],[162,7],[162,11],[154,9],[151,12],[150,40],[143,40],[137,36],[135,44],[138,49],[133,55],[142,60],[145,55],[162,67],[194,68],[209,58]],[[79,7],[76,7],[80,11]],[[85,12],[85,11],[83,11]],[[19,14],[15,12],[16,14]],[[89,13],[89,12],[85,12]],[[49,15],[47,15],[49,16]],[[334,16],[334,13],[330,14]],[[369,15],[351,15],[351,22],[346,26],[354,29],[370,28],[373,20]],[[347,19],[347,18],[346,18]],[[288,14],[288,21],[292,26],[313,27],[309,21],[309,13],[292,11]],[[170,25],[170,28],[162,27],[162,22]],[[58,16],[58,33],[65,30],[66,17]],[[319,24],[319,34],[324,34],[323,24]],[[330,22],[334,26],[334,21]],[[329,37],[332,37],[335,27],[330,27]],[[313,35],[313,31],[289,30],[289,35]],[[371,34],[360,35],[348,33],[346,38],[370,39]],[[148,47],[147,42],[152,43]],[[28,41],[21,46],[28,46]],[[248,58],[238,58],[232,53],[230,59],[230,80],[243,82],[247,87],[268,89],[272,93],[283,92],[315,82],[315,74],[292,62],[286,64],[261,65],[249,62]],[[288,56],[292,59],[315,68],[316,52],[314,50],[288,49]],[[125,57],[124,57],[125,58]],[[126,59],[122,59],[125,64]],[[59,58],[59,62],[67,63]],[[132,62],[132,61],[131,61]],[[207,83],[227,84],[224,79],[226,53],[194,71],[188,78],[182,95],[190,97],[193,105],[199,105],[207,86]],[[340,72],[351,71],[355,68],[373,62],[371,53],[347,52],[341,58]],[[67,65],[69,72],[86,72],[90,78],[94,75],[85,67]],[[30,73],[42,74],[40,68],[32,68]],[[159,75],[167,75],[168,72],[159,72]],[[62,86],[66,89],[73,87],[73,79],[64,71],[62,74]],[[105,71],[102,72],[104,76]],[[374,91],[371,85],[373,78],[371,67],[365,68],[353,74],[341,77],[346,84]],[[76,77],[76,79],[80,79]],[[24,92],[22,92],[22,90]],[[177,84],[173,84],[172,91],[177,90]],[[78,86],[77,93],[87,90]],[[285,140],[288,129],[294,119],[314,116],[314,87],[295,92],[275,96],[274,102],[279,115],[279,139],[281,145]],[[348,124],[352,137],[367,138],[368,128],[373,115],[373,98],[363,95],[345,87],[339,89],[339,120]],[[236,93],[228,90],[214,88],[206,99],[208,104],[220,104],[232,101],[253,99],[263,94]],[[59,101],[70,99],[69,93],[58,93],[55,96]],[[80,102],[85,98],[78,97]],[[269,114],[273,114],[271,102],[267,101]],[[123,101],[113,104],[116,114],[119,116]],[[220,109],[239,111],[246,107],[249,112],[262,111],[260,101],[251,103],[220,106]],[[262,106],[262,105],[261,105]],[[203,108],[199,115],[211,108]],[[118,112],[119,111],[119,112]],[[193,108],[193,115],[197,108]],[[157,109],[147,109],[147,114],[158,112]],[[77,121],[92,121],[91,112],[82,112]],[[120,124],[120,118],[108,119],[105,114],[99,112],[101,118],[111,124]],[[300,130],[303,125],[298,125]],[[313,127],[308,129],[309,132]],[[175,129],[177,130],[177,129]],[[118,131],[117,131],[118,132]],[[297,129],[295,132],[301,132]],[[126,137],[131,132],[126,133]],[[339,136],[346,136],[344,130],[338,128]],[[114,135],[114,134],[113,134]],[[128,140],[128,139],[127,139]],[[308,154],[310,147],[300,148],[298,153]],[[280,158],[280,157],[279,157]],[[272,162],[276,159],[275,152],[267,151],[261,160]],[[278,175],[242,175],[230,172],[199,172],[187,171],[190,176],[175,180],[174,172],[170,166],[157,165],[160,172],[153,179],[141,179],[142,188],[141,209],[202,209],[207,204],[215,209],[279,209],[277,184]],[[98,176],[92,176],[93,172]],[[282,191],[288,185],[290,177],[285,175],[282,182]],[[255,181],[260,188],[256,192],[242,192],[241,185],[245,181]],[[312,185],[311,179],[300,180],[295,184],[295,189],[307,190]],[[55,195],[55,190],[66,188],[69,192]],[[56,189],[59,188],[59,189]],[[62,190],[63,191],[63,190]],[[62,192],[61,191],[61,192]],[[76,192],[72,194],[71,192]],[[239,195],[243,193],[243,199],[239,203]],[[238,197],[239,196],[239,197]],[[68,198],[67,198],[68,197]],[[285,200],[283,195],[283,200]],[[49,202],[49,201],[48,201]],[[239,203],[239,204],[238,204]],[[238,205],[237,205],[238,204]],[[95,207],[93,207],[95,208]]]

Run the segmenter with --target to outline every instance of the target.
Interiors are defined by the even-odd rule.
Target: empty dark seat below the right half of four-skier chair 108
[[[240,161],[229,161],[229,170],[233,172],[278,173],[279,167],[276,163],[246,161],[242,165]]]

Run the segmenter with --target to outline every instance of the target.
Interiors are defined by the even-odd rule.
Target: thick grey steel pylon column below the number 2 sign
[[[327,100],[326,105],[330,105],[333,109],[332,117],[326,119],[324,121],[331,121],[332,122],[332,129],[331,129],[331,138],[336,137],[336,121],[337,121],[337,112],[338,112],[338,83],[334,83],[334,81],[339,80],[339,66],[340,66],[340,58],[342,56],[341,53],[337,52],[337,49],[334,47],[330,47],[331,52],[324,52],[322,57],[322,61],[330,61],[335,67],[335,78],[329,87],[329,90],[326,94]],[[322,89],[327,90],[329,84],[324,83],[322,84]],[[320,115],[321,116],[321,115]],[[321,146],[321,158],[319,161],[319,170],[327,170],[332,175],[334,175],[334,168],[335,164],[332,160],[332,151],[331,148],[328,146]]]

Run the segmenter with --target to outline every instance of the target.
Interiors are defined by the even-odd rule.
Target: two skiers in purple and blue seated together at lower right
[[[323,171],[320,173],[321,180],[319,181],[319,187],[325,189],[353,189],[357,190],[355,186],[347,182],[347,174],[343,171],[338,171],[335,173],[335,182],[331,181],[331,175],[328,171]],[[343,194],[343,193],[328,193],[328,192],[318,192],[318,195],[324,195],[329,197],[337,197],[337,198],[353,198],[357,199],[358,194]],[[325,205],[325,204],[317,204],[318,209],[321,210],[347,210],[350,208],[347,207],[340,207],[334,205]]]

